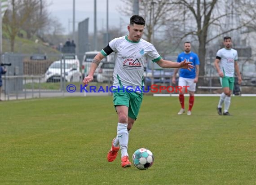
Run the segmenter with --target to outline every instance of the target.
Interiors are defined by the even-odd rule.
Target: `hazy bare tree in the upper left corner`
[[[3,18],[3,28],[9,36],[12,52],[15,38],[21,30],[26,32],[28,39],[37,35],[44,40],[43,33],[62,34],[63,26],[57,18],[50,18],[47,7],[46,0],[11,0],[10,9]]]

